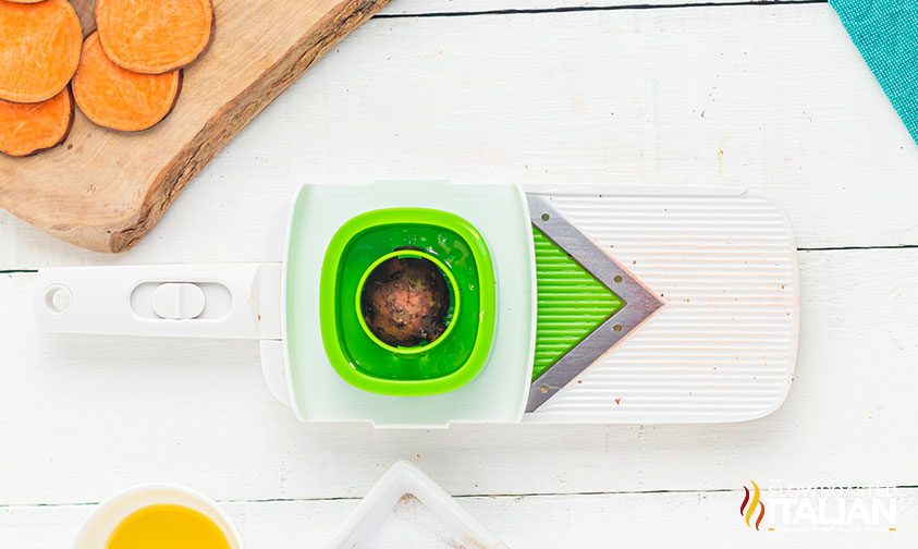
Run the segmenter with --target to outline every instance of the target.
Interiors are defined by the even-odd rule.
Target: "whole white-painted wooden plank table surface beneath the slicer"
[[[0,547],[68,547],[94,502],[149,480],[225,502],[252,549],[321,547],[399,459],[513,547],[914,547],[918,147],[829,4],[714,1],[394,0],[133,252],[0,212]],[[34,269],[253,260],[303,182],[389,176],[773,196],[801,263],[790,398],[735,425],[303,425],[256,343],[33,326]],[[737,517],[750,478],[898,486],[898,530],[756,533]]]

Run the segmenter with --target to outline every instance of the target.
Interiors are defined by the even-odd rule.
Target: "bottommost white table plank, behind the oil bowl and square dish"
[[[914,547],[918,490],[896,491],[897,532],[755,532],[743,523],[743,492],[619,493],[461,498],[511,547]],[[356,500],[227,502],[248,549],[325,547]],[[91,505],[0,509],[0,542],[16,549],[68,547]],[[766,523],[767,524],[767,523]]]

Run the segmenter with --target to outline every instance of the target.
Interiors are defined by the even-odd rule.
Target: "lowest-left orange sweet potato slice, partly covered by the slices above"
[[[0,152],[24,157],[60,145],[72,125],[70,88],[37,103],[0,100]]]

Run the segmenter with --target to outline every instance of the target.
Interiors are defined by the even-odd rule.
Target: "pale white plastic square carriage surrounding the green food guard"
[[[329,243],[341,227],[367,211],[405,206],[450,211],[475,227],[488,246],[499,286],[494,338],[480,373],[462,387],[425,396],[357,389],[332,367],[319,324],[292,320],[292,315],[318,317],[322,290],[317,282]],[[294,199],[291,220],[284,231],[290,236],[284,271],[295,279],[283,283],[283,339],[285,380],[297,418],[371,422],[387,428],[519,422],[533,377],[536,314],[533,229],[519,186],[442,180],[306,185]]]

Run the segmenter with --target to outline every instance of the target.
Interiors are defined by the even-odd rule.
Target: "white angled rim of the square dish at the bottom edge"
[[[357,509],[351,513],[329,549],[367,547],[385,521],[392,515],[399,500],[406,493],[417,498],[437,515],[452,534],[464,541],[463,547],[505,549],[491,534],[433,480],[411,463],[401,461],[393,465],[367,492]]]

